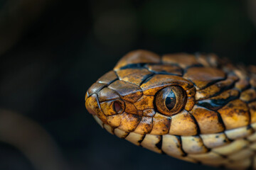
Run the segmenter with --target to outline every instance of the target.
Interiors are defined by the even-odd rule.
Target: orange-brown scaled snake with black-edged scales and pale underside
[[[256,66],[215,54],[134,50],[92,84],[102,128],[186,162],[256,169]]]

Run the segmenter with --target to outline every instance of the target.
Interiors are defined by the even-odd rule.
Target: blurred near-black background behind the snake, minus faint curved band
[[[90,85],[141,48],[256,64],[256,3],[1,0],[0,108],[41,125],[70,169],[213,169],[120,140],[85,110]],[[1,142],[0,169],[35,168]]]

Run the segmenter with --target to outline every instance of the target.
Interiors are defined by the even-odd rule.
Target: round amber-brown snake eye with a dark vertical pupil
[[[157,110],[164,115],[174,115],[181,111],[186,103],[185,91],[180,86],[169,86],[156,94]]]

